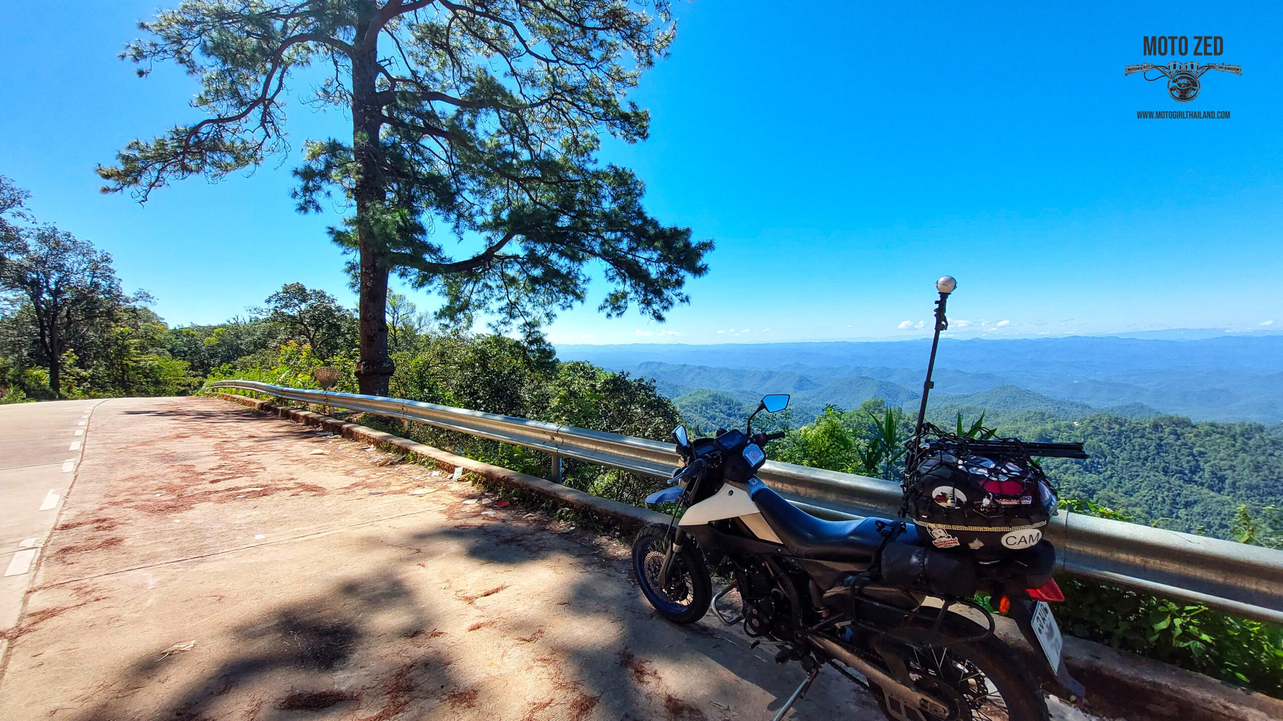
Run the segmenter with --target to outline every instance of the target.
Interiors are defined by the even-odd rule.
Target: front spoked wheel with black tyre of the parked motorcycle
[[[642,529],[633,541],[633,571],[642,593],[659,616],[674,623],[694,623],[708,611],[713,597],[712,576],[708,575],[704,554],[686,536],[672,559],[668,582],[661,586],[659,568],[670,543],[667,523],[650,523]]]

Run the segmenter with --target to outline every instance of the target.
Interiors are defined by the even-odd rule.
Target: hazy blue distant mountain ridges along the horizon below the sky
[[[826,404],[854,408],[869,398],[893,405],[916,402],[928,352],[925,340],[558,348],[563,359],[653,377],[670,398],[707,389],[751,403],[766,393],[789,393],[799,416]],[[935,385],[933,408],[1002,405],[1064,417],[1110,411],[1279,423],[1283,335],[944,339]],[[966,398],[987,391],[996,395]]]

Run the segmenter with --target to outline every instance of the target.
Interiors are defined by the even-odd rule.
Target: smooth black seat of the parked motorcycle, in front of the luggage
[[[825,521],[793,505],[761,481],[752,484],[749,491],[753,503],[762,512],[762,518],[794,556],[817,561],[871,563],[881,547],[879,518]]]

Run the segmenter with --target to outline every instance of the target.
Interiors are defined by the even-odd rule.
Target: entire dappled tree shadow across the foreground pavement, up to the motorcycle
[[[712,616],[659,618],[629,563],[593,539],[444,511],[362,541],[366,559],[389,547],[393,558],[219,631],[223,643],[136,658],[85,694],[77,721],[769,718],[802,680]],[[830,685],[797,717],[880,716],[845,681]]]

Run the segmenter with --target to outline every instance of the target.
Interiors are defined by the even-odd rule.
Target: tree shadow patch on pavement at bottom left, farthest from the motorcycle
[[[308,718],[350,716],[391,718],[409,704],[416,686],[450,688],[449,659],[439,652],[385,659],[380,636],[427,638],[430,620],[409,588],[386,572],[340,584],[332,593],[291,603],[231,630],[223,658],[190,681],[185,662],[196,654],[137,658],[113,684],[91,689],[94,706],[80,721],[124,718]],[[353,668],[368,670],[357,683],[336,684]],[[413,679],[413,681],[412,681]],[[431,684],[431,686],[429,686]],[[159,697],[159,698],[157,698]],[[368,711],[368,713],[364,713]],[[323,712],[318,716],[318,712]]]

